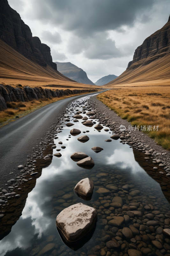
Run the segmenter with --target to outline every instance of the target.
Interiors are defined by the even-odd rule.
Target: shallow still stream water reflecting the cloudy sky
[[[85,98],[83,98],[83,100],[85,100]],[[78,103],[79,106],[82,106],[80,102],[81,99],[76,100],[75,104],[77,105]],[[80,107],[76,109],[82,110]],[[71,117],[73,114],[68,110],[66,116],[68,115]],[[85,114],[81,115],[86,116]],[[71,119],[70,122],[72,122]],[[106,139],[110,139],[111,132],[104,131],[105,126],[99,132],[94,129],[95,124],[92,127],[87,127],[81,122],[82,120],[79,119],[79,122],[74,123],[71,127],[67,127],[65,123],[63,123],[62,132],[58,133],[58,139],[54,140],[57,146],[56,149],[61,149],[60,153],[62,156],[60,158],[53,156],[51,164],[42,170],[41,177],[36,180],[36,186],[31,193],[28,194],[22,216],[12,227],[10,234],[0,241],[0,256],[78,256],[80,254],[81,256],[85,256],[87,253],[93,254],[94,251],[92,251],[93,253],[89,253],[91,248],[100,245],[103,242],[102,237],[107,234],[107,230],[105,230],[107,228],[105,228],[105,226],[107,221],[109,221],[108,217],[110,213],[107,213],[103,218],[106,220],[106,223],[102,222],[102,218],[98,218],[92,238],[77,251],[72,250],[63,243],[56,230],[55,220],[57,214],[71,204],[82,202],[92,206],[95,205],[94,202],[100,202],[101,197],[107,200],[108,198],[105,198],[105,195],[100,195],[96,192],[96,187],[105,187],[110,180],[119,188],[124,184],[129,184],[132,185],[131,187],[140,190],[140,196],[136,200],[139,204],[149,200],[148,196],[150,196],[151,199],[147,201],[147,204],[152,201],[155,207],[156,205],[165,205],[167,210],[164,210],[164,214],[170,212],[170,205],[164,197],[159,183],[153,180],[135,161],[133,149],[130,148],[128,144],[122,145],[119,140],[106,142]],[[95,122],[96,124],[98,123],[97,120]],[[72,128],[79,129],[81,134],[77,136],[70,135]],[[83,131],[89,132],[83,133]],[[77,140],[77,138],[83,134],[88,135],[90,138],[85,143]],[[62,141],[63,144],[58,144],[59,141]],[[66,148],[62,149],[61,146],[65,146]],[[91,149],[94,146],[101,147],[103,150],[99,153],[95,153]],[[53,150],[53,154],[57,153],[56,149]],[[70,158],[71,154],[75,151],[84,152],[88,156],[91,156],[95,163],[94,167],[91,170],[79,167],[76,162]],[[90,201],[83,201],[73,192],[73,188],[78,181],[86,177],[91,178],[95,186]],[[122,190],[120,189],[120,191]],[[109,196],[114,197],[114,193],[115,192],[111,192]],[[69,194],[70,197],[65,199],[64,203],[61,203],[59,199],[62,199],[62,196],[65,194]],[[125,192],[122,192],[122,194],[118,196],[122,197],[123,204],[128,205]],[[99,207],[97,208],[99,209]],[[159,207],[156,209],[159,210]],[[121,211],[118,213],[121,213]],[[115,215],[114,211],[112,212],[112,215],[113,214]],[[168,214],[170,215],[170,213]],[[136,221],[133,221],[131,224],[135,222]],[[155,232],[156,231],[152,231],[150,234]],[[160,232],[160,234],[162,234],[162,232]],[[125,237],[122,240],[127,240],[129,243],[129,240]],[[148,241],[146,243],[147,248],[151,249],[149,254],[154,255],[158,248],[151,243],[151,239],[148,239]],[[47,250],[47,252],[45,250],[43,251],[43,248],[48,248],[48,246],[46,246],[48,244],[51,244],[49,245],[49,250]],[[103,247],[104,246],[103,243]],[[164,248],[162,247],[160,249]],[[168,250],[169,249],[166,248],[166,253],[168,253]],[[117,253],[120,254],[120,251],[118,250]],[[123,254],[125,252],[127,251],[124,251]],[[94,254],[101,255],[100,251],[96,251]],[[118,254],[115,252],[114,256]]]

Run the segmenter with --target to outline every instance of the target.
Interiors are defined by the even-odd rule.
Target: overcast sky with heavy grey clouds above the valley
[[[71,62],[92,82],[119,76],[137,46],[165,25],[169,0],[8,0],[53,61]]]

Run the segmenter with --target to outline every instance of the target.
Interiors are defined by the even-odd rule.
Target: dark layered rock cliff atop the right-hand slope
[[[127,69],[147,65],[152,61],[162,58],[170,52],[170,16],[163,28],[148,36],[142,45],[135,50],[133,60]]]

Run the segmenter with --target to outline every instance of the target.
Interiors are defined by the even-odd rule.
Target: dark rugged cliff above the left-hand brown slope
[[[0,1],[0,38],[26,58],[43,67],[48,63],[57,70],[56,64],[52,62],[50,48],[41,44],[42,53],[35,46],[31,29],[21,20],[18,12],[9,6],[7,0]]]

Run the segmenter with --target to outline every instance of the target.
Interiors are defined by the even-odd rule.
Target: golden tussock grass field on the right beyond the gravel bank
[[[127,119],[134,127],[139,126],[139,130],[142,125],[144,133],[163,148],[170,150],[169,86],[110,90],[99,94],[97,99],[114,110],[122,119]]]

